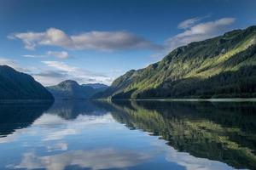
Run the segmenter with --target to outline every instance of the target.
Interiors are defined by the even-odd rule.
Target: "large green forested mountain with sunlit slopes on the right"
[[[160,62],[131,70],[94,98],[256,97],[256,26],[191,42]]]

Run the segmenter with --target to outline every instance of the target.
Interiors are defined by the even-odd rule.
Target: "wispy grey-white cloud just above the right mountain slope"
[[[184,20],[180,23],[178,27],[184,29],[184,31],[167,39],[167,48],[170,50],[186,45],[189,42],[197,42],[207,38],[216,37],[224,31],[227,31],[228,26],[233,24],[236,20],[235,18],[222,18],[219,20],[195,24],[195,22],[198,22],[201,19],[202,18],[194,18]]]

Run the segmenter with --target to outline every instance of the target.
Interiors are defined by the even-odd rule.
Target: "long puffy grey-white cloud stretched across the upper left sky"
[[[20,39],[26,49],[49,45],[68,49],[94,49],[112,51],[119,49],[160,49],[161,46],[127,31],[90,31],[78,35],[67,35],[64,31],[49,28],[44,32],[18,32],[9,39]]]

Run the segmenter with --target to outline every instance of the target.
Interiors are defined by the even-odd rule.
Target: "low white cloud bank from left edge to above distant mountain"
[[[79,67],[70,66],[60,61],[42,61],[42,63],[47,67],[39,71],[35,67],[23,67],[15,59],[0,57],[0,65],[9,65],[16,71],[26,72],[44,86],[56,85],[65,80],[74,80],[81,84],[101,82],[110,85],[113,82],[113,77],[115,77],[115,75],[108,77],[101,73],[80,69]]]

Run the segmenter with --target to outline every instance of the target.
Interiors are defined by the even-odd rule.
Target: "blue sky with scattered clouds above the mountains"
[[[172,49],[256,25],[256,0],[0,0],[0,65],[110,85]]]

